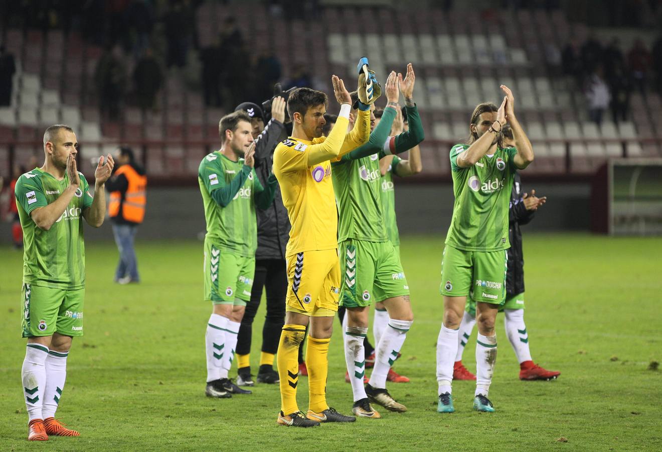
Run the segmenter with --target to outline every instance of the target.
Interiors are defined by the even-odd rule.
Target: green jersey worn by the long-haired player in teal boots
[[[474,166],[459,168],[455,160],[467,148],[456,144],[450,152],[455,203],[446,243],[465,251],[508,249],[508,204],[517,150],[497,148]]]

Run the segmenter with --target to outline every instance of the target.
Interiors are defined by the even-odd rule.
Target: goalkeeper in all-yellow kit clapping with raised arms
[[[350,93],[337,76],[331,80],[340,113],[328,137],[322,137],[328,103],[326,94],[310,88],[295,89],[287,100],[292,136],[279,143],[273,154],[273,174],[280,184],[292,225],[286,252],[285,325],[277,355],[281,390],[277,422],[296,427],[356,420],[338,413],[326,403],[327,355],[340,294],[338,213],[331,162],[368,141],[370,111],[360,111],[354,129],[347,133]],[[362,88],[365,93],[365,80]],[[371,97],[374,101],[378,94],[371,93]],[[306,364],[310,403],[308,413],[303,414],[297,406],[297,352],[308,322]]]

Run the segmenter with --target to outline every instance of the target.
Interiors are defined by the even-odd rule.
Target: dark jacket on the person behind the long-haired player
[[[526,225],[534,217],[535,211],[526,210],[522,201],[522,182],[520,174],[515,173],[515,180],[510,192],[510,210],[508,224],[508,272],[506,273],[506,293],[508,296],[524,292],[524,254],[522,254],[522,231],[520,225]]]

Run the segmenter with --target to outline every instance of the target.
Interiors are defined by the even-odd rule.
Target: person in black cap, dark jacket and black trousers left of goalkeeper
[[[277,98],[281,99],[281,98]],[[255,169],[258,179],[263,184],[269,177],[273,165],[273,150],[276,145],[287,137],[285,132],[285,101],[273,101],[273,117],[261,130],[263,113],[254,103],[242,103],[235,111],[244,110],[254,117]],[[260,124],[261,123],[261,124]],[[259,135],[257,135],[259,133]],[[256,251],[255,276],[250,302],[237,338],[236,355],[238,359],[239,386],[253,386],[250,371],[250,348],[253,320],[260,307],[262,292],[267,292],[267,315],[262,328],[262,347],[259,383],[275,384],[279,382],[278,372],[273,369],[273,360],[281,337],[281,329],[285,323],[285,295],[287,294],[287,265],[285,264],[285,247],[289,239],[289,218],[287,209],[283,206],[280,188],[276,188],[273,203],[269,209],[258,210],[258,250]]]

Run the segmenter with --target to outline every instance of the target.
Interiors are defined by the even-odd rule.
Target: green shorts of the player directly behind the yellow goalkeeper
[[[391,242],[348,239],[338,245],[340,306],[357,308],[409,295],[400,256]]]

